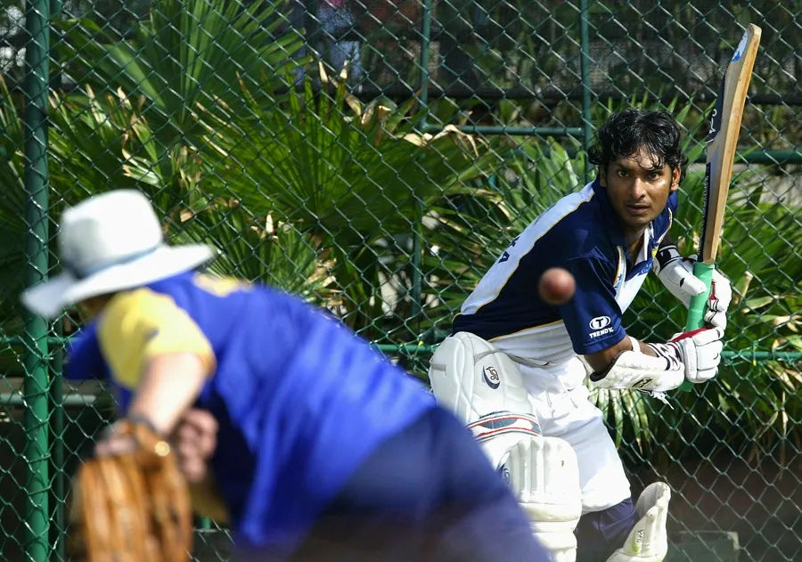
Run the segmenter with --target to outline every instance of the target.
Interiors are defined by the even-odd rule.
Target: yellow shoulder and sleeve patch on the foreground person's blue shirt
[[[207,372],[215,369],[214,351],[198,324],[172,297],[151,289],[112,297],[102,312],[97,334],[111,376],[122,387],[137,387],[147,362],[160,354],[197,354]]]

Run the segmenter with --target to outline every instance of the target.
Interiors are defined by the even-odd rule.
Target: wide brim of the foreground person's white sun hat
[[[85,298],[141,287],[194,269],[215,257],[217,251],[204,244],[161,246],[146,256],[125,264],[111,265],[83,279],[77,279],[70,273],[61,273],[25,290],[20,298],[22,304],[34,313],[54,318],[64,308]]]

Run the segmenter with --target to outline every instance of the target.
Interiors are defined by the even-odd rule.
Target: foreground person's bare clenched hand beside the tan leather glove
[[[217,448],[217,419],[209,411],[188,410],[170,435],[178,468],[191,484],[209,477],[209,458]]]

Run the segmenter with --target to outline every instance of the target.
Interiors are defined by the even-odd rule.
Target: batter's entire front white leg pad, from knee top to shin
[[[485,339],[458,332],[432,354],[429,379],[438,402],[471,428],[502,472],[552,560],[575,562],[577,454],[567,441],[541,435],[518,365]]]

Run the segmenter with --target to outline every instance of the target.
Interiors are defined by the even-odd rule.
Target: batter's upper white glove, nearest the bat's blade
[[[691,305],[691,297],[700,295],[708,288],[704,282],[693,275],[696,256],[682,257],[676,246],[660,248],[654,261],[654,270],[666,289],[677,297],[685,308]],[[710,297],[705,305],[705,322],[724,330],[727,327],[727,308],[732,300],[730,281],[718,270],[713,270],[710,283]]]

